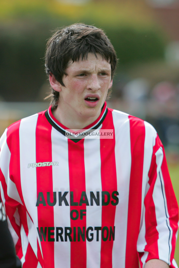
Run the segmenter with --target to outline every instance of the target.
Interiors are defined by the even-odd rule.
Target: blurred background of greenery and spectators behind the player
[[[1,0],[0,6],[0,135],[48,108],[43,57],[50,30],[93,24],[119,58],[108,106],[154,125],[179,200],[179,1]],[[179,263],[179,242],[175,258]]]

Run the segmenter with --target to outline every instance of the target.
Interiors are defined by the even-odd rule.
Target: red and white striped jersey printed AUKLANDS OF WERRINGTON
[[[177,267],[178,205],[155,129],[106,103],[85,129],[114,129],[113,139],[65,129],[49,108],[0,140],[1,199],[23,268]]]

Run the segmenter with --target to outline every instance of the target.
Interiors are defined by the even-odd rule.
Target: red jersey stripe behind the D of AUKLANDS
[[[103,129],[114,129],[111,110],[108,110],[105,118],[105,124],[103,124]],[[111,195],[112,192],[117,191],[115,133],[113,137],[113,139],[100,139],[102,191],[109,192],[110,194],[110,203],[107,206],[102,207],[101,230],[104,226],[107,226],[108,230],[110,230],[110,226],[112,227],[112,230],[114,228],[116,206],[111,203],[113,200]],[[104,234],[106,236],[106,231]],[[101,239],[101,268],[112,268],[112,247],[112,238],[110,241],[109,236],[107,241],[103,241],[103,239]]]

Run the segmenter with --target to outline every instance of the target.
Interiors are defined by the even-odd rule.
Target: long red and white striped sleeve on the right
[[[137,241],[140,266],[161,259],[171,268],[178,230],[178,205],[171,184],[165,151],[157,136],[153,147]]]

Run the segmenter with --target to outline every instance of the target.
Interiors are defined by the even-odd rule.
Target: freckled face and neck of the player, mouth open
[[[57,112],[65,115],[66,122],[78,121],[87,126],[100,115],[112,86],[111,65],[100,54],[96,58],[89,53],[86,60],[71,61],[65,72],[67,76],[62,79],[65,86],[59,87]]]

